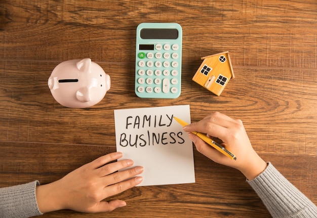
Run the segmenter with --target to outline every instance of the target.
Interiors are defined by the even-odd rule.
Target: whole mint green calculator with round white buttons
[[[135,93],[140,98],[178,98],[181,92],[182,27],[141,23],[137,27]]]

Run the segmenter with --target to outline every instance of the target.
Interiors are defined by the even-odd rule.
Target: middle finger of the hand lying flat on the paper
[[[136,166],[136,167],[124,170],[124,171],[115,172],[107,177],[104,177],[104,180],[105,180],[104,184],[109,186],[109,185],[113,185],[116,183],[120,183],[120,182],[125,181],[127,179],[133,178],[142,172],[143,172],[142,166]]]

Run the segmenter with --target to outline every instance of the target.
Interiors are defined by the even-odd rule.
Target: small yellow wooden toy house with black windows
[[[220,96],[231,78],[234,78],[229,52],[202,58],[203,63],[192,80]]]

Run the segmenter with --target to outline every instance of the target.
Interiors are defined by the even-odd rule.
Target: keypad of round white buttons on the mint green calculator
[[[136,93],[144,98],[177,98],[181,88],[181,46],[156,43],[137,51]]]

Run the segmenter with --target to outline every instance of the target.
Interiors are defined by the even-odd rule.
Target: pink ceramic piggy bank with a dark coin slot
[[[54,99],[69,108],[87,108],[100,102],[110,89],[110,76],[90,58],[64,61],[48,81]]]

